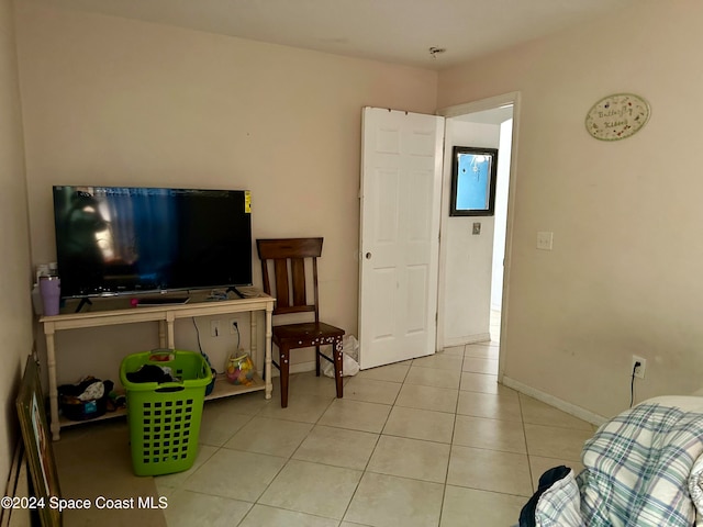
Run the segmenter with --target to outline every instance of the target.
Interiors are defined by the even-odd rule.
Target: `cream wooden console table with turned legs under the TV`
[[[174,341],[174,323],[177,318],[190,318],[194,316],[221,315],[231,313],[252,313],[252,358],[256,363],[256,317],[254,313],[257,311],[266,312],[266,347],[264,355],[264,380],[255,375],[254,383],[244,385],[234,385],[219,375],[215,388],[205,399],[219,399],[239,393],[247,393],[258,390],[265,391],[266,399],[271,399],[271,315],[274,312],[275,299],[267,294],[260,293],[255,298],[207,301],[204,298],[190,295],[190,301],[185,304],[160,304],[144,307],[132,307],[130,299],[111,298],[97,299],[93,301],[92,310],[86,313],[62,313],[55,316],[43,316],[40,323],[44,327],[44,336],[46,337],[46,357],[48,373],[48,394],[51,407],[51,428],[54,440],[59,439],[62,426],[76,425],[85,422],[69,422],[60,419],[58,415],[58,385],[56,382],[56,344],[55,334],[63,329],[77,329],[85,327],[111,326],[115,324],[133,324],[137,322],[158,322],[159,346],[161,348],[176,349]],[[78,301],[70,301],[66,310],[71,307],[75,310]],[[123,413],[105,414],[102,417],[113,417],[123,415]]]

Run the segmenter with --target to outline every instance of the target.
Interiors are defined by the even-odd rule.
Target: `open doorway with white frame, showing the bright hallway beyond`
[[[518,93],[507,93],[438,112],[446,117],[437,350],[503,340],[509,284],[510,191],[514,182],[514,138]],[[498,148],[493,216],[449,217],[454,146]],[[502,348],[502,344],[499,344]],[[501,349],[502,351],[502,349]],[[499,380],[502,378],[499,354]]]

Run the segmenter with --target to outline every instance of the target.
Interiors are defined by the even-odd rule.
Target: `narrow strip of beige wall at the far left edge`
[[[24,145],[11,0],[0,0],[0,481],[5,482],[19,434],[14,400],[33,340]]]

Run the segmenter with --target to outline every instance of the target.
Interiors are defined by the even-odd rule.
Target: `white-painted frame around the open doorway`
[[[498,381],[502,382],[503,371],[504,371],[504,352],[506,350],[505,343],[505,327],[509,318],[509,289],[510,289],[510,274],[511,274],[511,264],[512,264],[512,245],[513,245],[513,221],[514,221],[514,211],[515,211],[515,190],[516,190],[516,161],[517,161],[517,152],[518,152],[518,131],[520,131],[520,104],[521,104],[521,94],[518,91],[513,91],[509,93],[503,93],[495,97],[490,97],[488,99],[481,99],[479,101],[457,104],[453,106],[446,106],[437,110],[437,115],[440,115],[445,119],[458,117],[461,115],[482,112],[486,110],[493,110],[499,106],[512,104],[513,105],[513,130],[512,130],[512,149],[510,157],[510,171],[509,171],[509,189],[507,189],[507,217],[505,225],[505,257],[503,260],[503,291],[502,291],[502,306],[501,306],[501,328],[500,328],[500,346],[499,346],[499,361],[498,361]],[[446,157],[445,157],[446,158]],[[444,171],[444,177],[448,176],[447,170]],[[445,181],[446,182],[446,181]],[[444,317],[446,313],[444,312],[444,292],[446,288],[446,245],[443,243],[444,236],[446,234],[446,222],[447,214],[444,213],[444,204],[443,204],[443,214],[442,222],[439,225],[440,233],[440,242],[439,242],[439,287],[438,287],[438,299],[437,299],[437,350],[443,349],[444,347]]]

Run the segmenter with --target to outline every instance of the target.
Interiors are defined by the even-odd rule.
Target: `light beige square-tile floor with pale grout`
[[[168,525],[515,525],[594,427],[499,385],[495,340],[361,371],[342,400],[301,373],[286,410],[278,392],[209,402],[193,468],[156,478]]]

